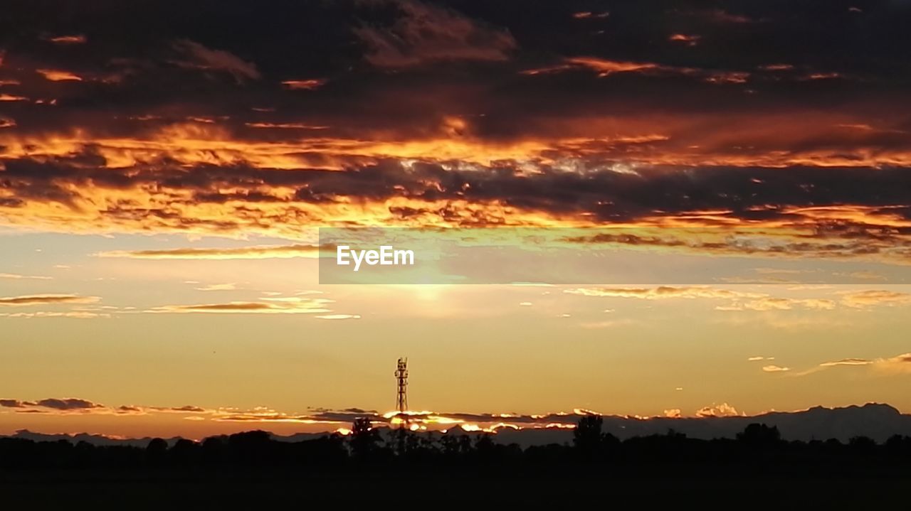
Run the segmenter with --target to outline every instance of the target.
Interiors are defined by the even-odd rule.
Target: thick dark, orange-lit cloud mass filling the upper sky
[[[12,1],[0,212],[226,234],[358,223],[346,207],[895,226],[909,23],[886,0]]]

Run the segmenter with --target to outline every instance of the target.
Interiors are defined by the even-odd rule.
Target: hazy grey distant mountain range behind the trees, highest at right
[[[884,442],[889,436],[911,436],[911,415],[903,415],[896,408],[878,403],[843,408],[815,406],[799,412],[770,412],[760,416],[723,417],[650,417],[605,416],[604,432],[625,440],[632,436],[663,435],[670,430],[691,438],[733,438],[747,425],[762,423],[777,426],[785,440],[827,440],[837,438],[846,442],[853,436],[869,436],[877,442]],[[389,432],[391,433],[391,431]],[[423,433],[426,435],[426,433]],[[435,433],[444,435],[443,433]],[[272,435],[281,442],[301,442],[326,435],[325,433],[296,433],[290,436]],[[481,433],[466,431],[459,426],[449,429],[446,436]],[[388,436],[388,434],[387,434]],[[13,438],[27,438],[35,441],[54,442],[67,440],[72,443],[88,442],[96,446],[139,446],[148,445],[151,438],[117,438],[103,435],[80,433],[77,435],[48,435],[33,433],[26,429],[15,432]],[[168,439],[173,445],[179,437]],[[500,428],[494,437],[500,444],[518,444],[522,447],[547,444],[566,444],[572,441],[571,429],[511,429]]]

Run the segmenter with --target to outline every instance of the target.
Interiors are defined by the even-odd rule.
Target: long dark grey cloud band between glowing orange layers
[[[19,201],[56,201],[62,204],[73,203],[80,196],[77,190],[82,185],[111,189],[157,185],[160,193],[167,194],[168,189],[173,189],[174,197],[170,204],[174,206],[274,203],[292,208],[303,204],[325,205],[352,199],[384,201],[395,197],[423,202],[496,201],[548,214],[585,214],[605,222],[710,210],[718,216],[735,219],[800,222],[812,216],[812,211],[802,208],[837,209],[842,205],[864,206],[870,208],[870,213],[878,215],[902,218],[911,215],[911,205],[908,204],[911,174],[903,167],[873,170],[795,165],[783,170],[730,166],[675,168],[664,165],[629,170],[621,162],[580,162],[578,170],[571,172],[554,165],[537,165],[536,172],[527,174],[519,166],[508,163],[486,167],[473,165],[460,170],[445,164],[416,162],[401,165],[388,161],[350,167],[341,172],[278,170],[247,165],[198,165],[188,170],[150,165],[135,167],[128,173],[117,173],[73,165],[11,161],[7,162],[5,173],[0,174],[5,178],[0,180],[0,189],[13,193]],[[226,195],[218,191],[232,187],[282,187],[295,191],[292,196],[261,192]],[[179,197],[180,191],[189,191],[192,195],[189,199]],[[407,207],[396,211],[400,215],[419,212]],[[113,218],[140,212],[163,218],[169,215],[167,211],[148,211],[129,203],[110,207],[102,214]],[[242,251],[255,252],[255,247]],[[169,255],[149,252],[145,256]]]

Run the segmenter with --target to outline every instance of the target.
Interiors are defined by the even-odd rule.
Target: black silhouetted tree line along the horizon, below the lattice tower
[[[352,433],[287,442],[265,431],[210,436],[201,442],[161,438],[148,446],[96,446],[67,440],[36,442],[0,438],[0,470],[175,469],[207,467],[310,468],[332,466],[824,466],[845,470],[888,467],[911,470],[911,436],[892,436],[877,444],[868,437],[843,443],[835,439],[786,441],[777,427],[747,426],[736,438],[701,440],[668,431],[620,441],[602,431],[600,416],[578,420],[571,444],[527,446],[497,443],[491,434],[413,433],[354,421]]]

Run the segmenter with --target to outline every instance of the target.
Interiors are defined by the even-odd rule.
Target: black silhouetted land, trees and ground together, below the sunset
[[[869,416],[883,410],[867,405],[827,411]],[[885,441],[870,436],[787,440],[778,426],[749,422],[732,438],[702,439],[668,429],[621,440],[605,431],[606,422],[617,418],[581,416],[574,429],[561,431],[567,442],[524,447],[505,440],[541,431],[514,430],[506,436],[460,427],[412,432],[374,427],[367,417],[356,419],[347,436],[279,437],[255,430],[201,442],[152,438],[96,445],[20,432],[0,438],[0,477],[7,490],[25,489],[5,492],[14,501],[63,502],[73,491],[89,501],[145,495],[137,506],[171,499],[203,503],[232,495],[255,495],[264,499],[257,500],[260,504],[277,504],[293,501],[295,492],[333,500],[351,486],[359,491],[344,494],[344,501],[369,501],[374,496],[368,494],[397,484],[401,480],[396,477],[403,475],[414,485],[408,488],[411,496],[454,491],[451,498],[459,501],[486,496],[534,502],[564,493],[636,500],[656,498],[652,492],[714,500],[762,491],[791,502],[869,506],[900,502],[899,489],[911,479],[907,435]],[[732,418],[746,422],[757,417],[709,420]],[[539,488],[518,495],[517,485]]]

